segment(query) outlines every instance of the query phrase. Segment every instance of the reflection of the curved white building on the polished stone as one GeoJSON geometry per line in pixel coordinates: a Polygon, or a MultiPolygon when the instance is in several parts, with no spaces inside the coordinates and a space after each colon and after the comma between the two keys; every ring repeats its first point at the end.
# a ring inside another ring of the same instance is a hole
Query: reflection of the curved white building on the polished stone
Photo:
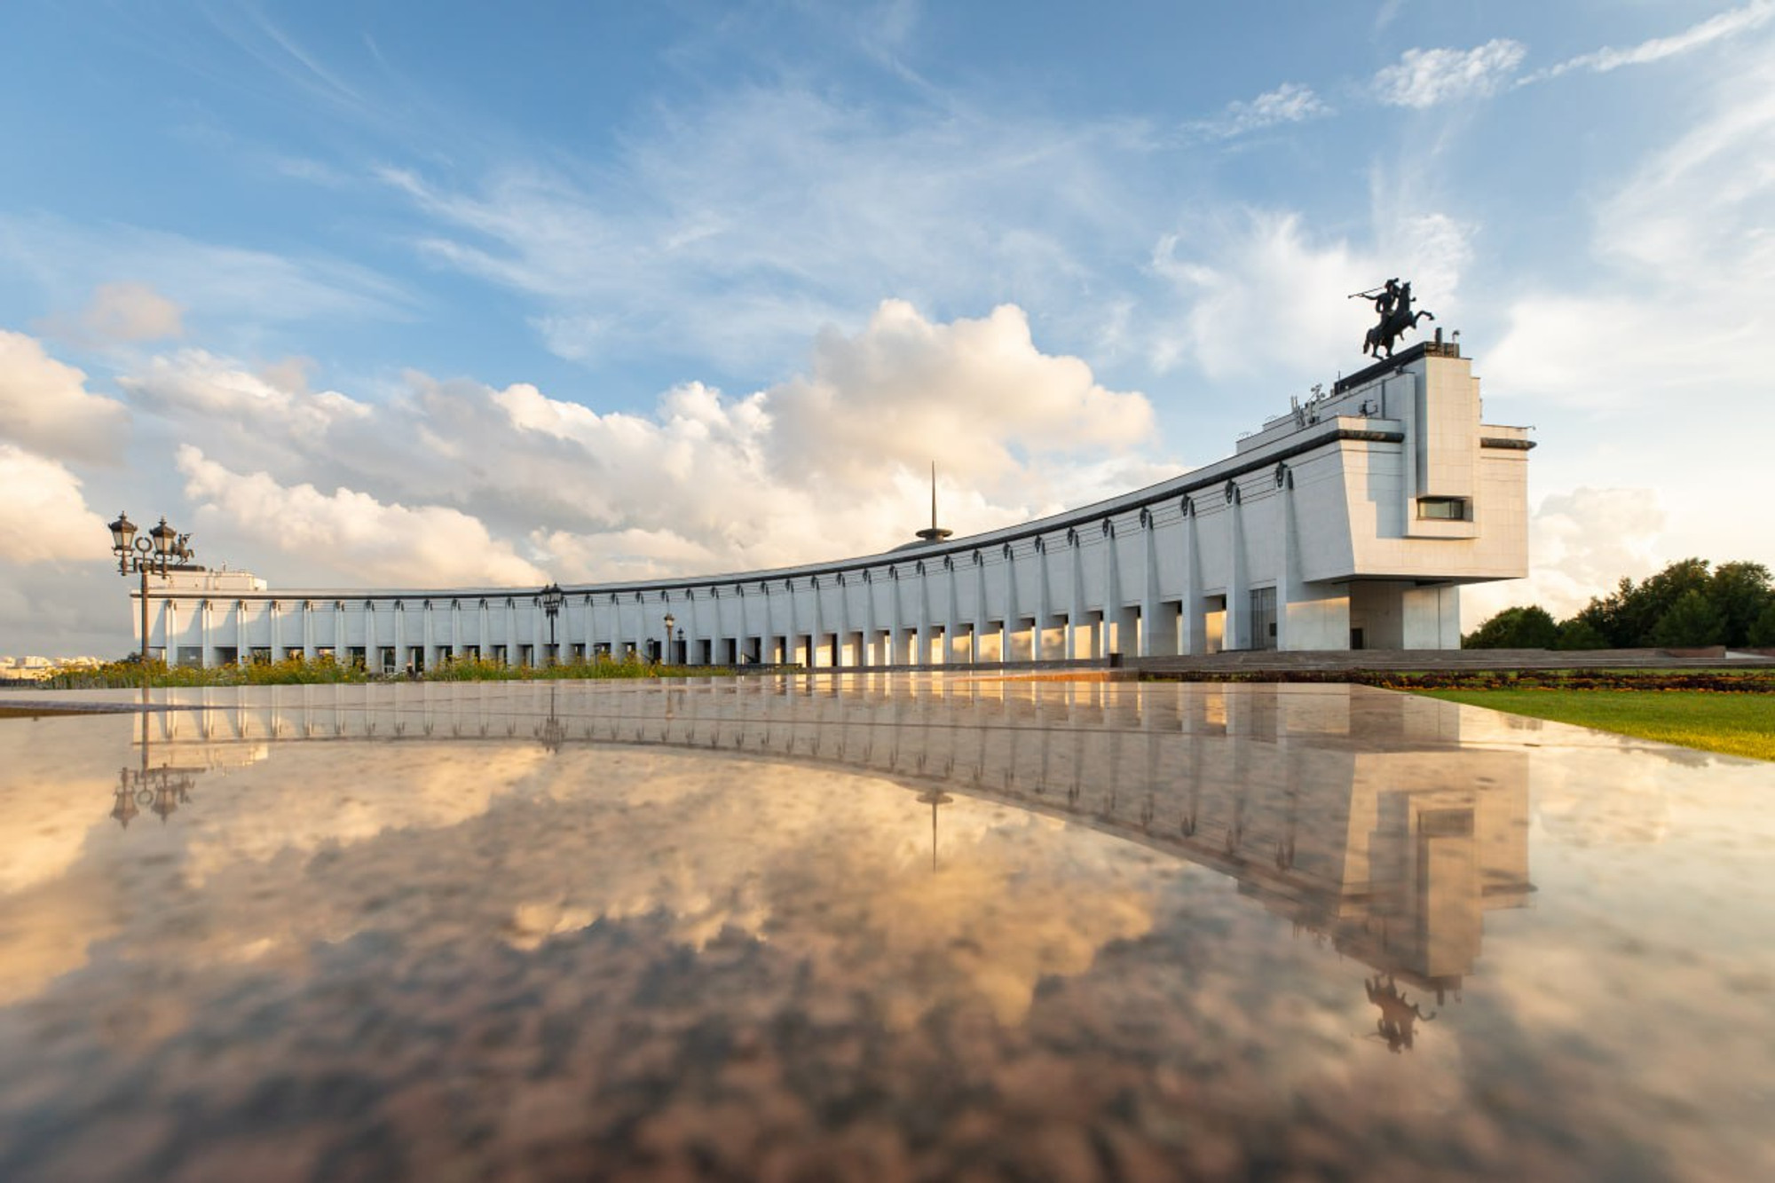
{"type": "Polygon", "coordinates": [[[1521,908],[1534,890],[1528,753],[1461,746],[1447,703],[1367,687],[875,675],[282,691],[227,705],[229,691],[202,691],[197,705],[217,705],[144,716],[144,769],[149,742],[190,753],[195,771],[263,758],[273,742],[499,739],[520,726],[550,751],[724,750],[916,787],[932,810],[934,869],[937,808],[966,792],[1232,877],[1374,970],[1363,988],[1376,1036],[1395,1052],[1459,998],[1484,913],[1521,908]]]}

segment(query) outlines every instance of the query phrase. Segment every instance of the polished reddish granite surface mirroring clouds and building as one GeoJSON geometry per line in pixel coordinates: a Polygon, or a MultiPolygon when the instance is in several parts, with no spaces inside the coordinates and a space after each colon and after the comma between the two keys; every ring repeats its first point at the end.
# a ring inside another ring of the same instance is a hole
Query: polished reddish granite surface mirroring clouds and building
{"type": "Polygon", "coordinates": [[[0,721],[0,1178],[1775,1178],[1775,769],[1345,686],[0,721]]]}

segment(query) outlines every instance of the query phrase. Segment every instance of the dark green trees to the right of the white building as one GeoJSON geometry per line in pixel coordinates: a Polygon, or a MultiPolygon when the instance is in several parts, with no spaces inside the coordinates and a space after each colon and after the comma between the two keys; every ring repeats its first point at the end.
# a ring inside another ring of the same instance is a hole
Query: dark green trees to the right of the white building
{"type": "Polygon", "coordinates": [[[1622,579],[1569,620],[1539,604],[1505,607],[1461,648],[1775,647],[1775,579],[1763,563],[1686,558],[1640,583],[1622,579]]]}

